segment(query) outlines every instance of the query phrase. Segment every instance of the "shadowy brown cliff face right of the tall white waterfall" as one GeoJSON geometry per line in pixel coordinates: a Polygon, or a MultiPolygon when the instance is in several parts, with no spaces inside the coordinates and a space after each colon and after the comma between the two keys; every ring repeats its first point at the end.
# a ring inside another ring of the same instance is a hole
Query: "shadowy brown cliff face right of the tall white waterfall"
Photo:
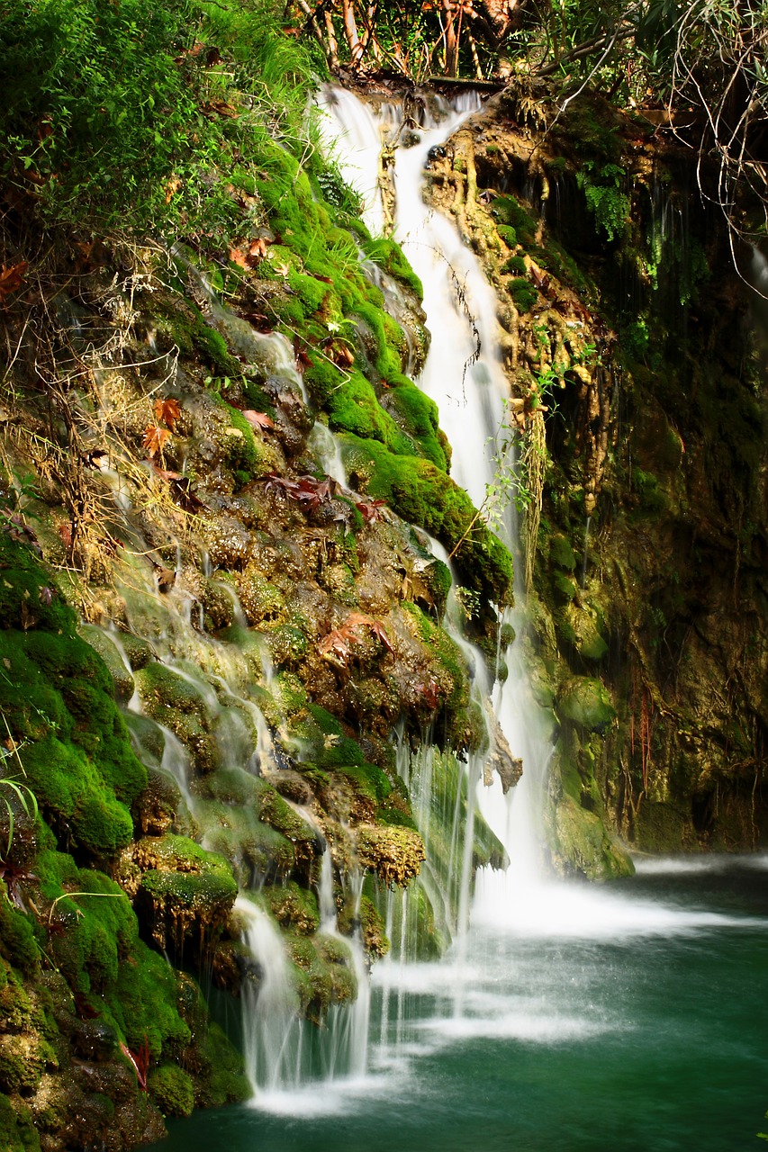
{"type": "Polygon", "coordinates": [[[690,157],[513,84],[430,175],[499,300],[565,872],[610,871],[597,819],[643,851],[767,833],[760,258],[735,268],[690,157]]]}

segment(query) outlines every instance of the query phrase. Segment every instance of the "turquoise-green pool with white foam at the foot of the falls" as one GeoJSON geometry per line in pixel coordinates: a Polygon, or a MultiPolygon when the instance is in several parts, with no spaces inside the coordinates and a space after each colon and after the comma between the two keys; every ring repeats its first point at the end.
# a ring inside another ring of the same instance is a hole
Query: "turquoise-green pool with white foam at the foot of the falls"
{"type": "Polygon", "coordinates": [[[647,869],[542,889],[542,916],[474,926],[461,963],[382,965],[366,1077],[196,1113],[155,1147],[756,1152],[768,861],[647,869]]]}

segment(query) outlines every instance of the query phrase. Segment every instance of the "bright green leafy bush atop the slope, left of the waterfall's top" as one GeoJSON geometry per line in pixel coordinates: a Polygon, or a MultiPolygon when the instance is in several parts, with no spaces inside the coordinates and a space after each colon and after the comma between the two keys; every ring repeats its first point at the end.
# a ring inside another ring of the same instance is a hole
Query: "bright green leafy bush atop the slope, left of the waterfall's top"
{"type": "Polygon", "coordinates": [[[270,134],[313,156],[309,73],[266,0],[9,0],[0,172],[48,225],[224,242],[258,211],[241,156],[270,134]]]}

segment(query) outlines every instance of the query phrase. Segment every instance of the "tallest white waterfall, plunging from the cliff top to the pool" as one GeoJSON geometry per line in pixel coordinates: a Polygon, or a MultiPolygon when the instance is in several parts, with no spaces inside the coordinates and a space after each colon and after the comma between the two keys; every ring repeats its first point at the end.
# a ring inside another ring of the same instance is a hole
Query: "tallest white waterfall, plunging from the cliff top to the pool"
{"type": "MultiPolygon", "coordinates": [[[[442,146],[479,107],[480,100],[472,93],[462,97],[458,107],[437,101],[436,114],[426,114],[416,134],[417,143],[397,149],[394,168],[394,238],[423,285],[427,327],[432,335],[427,363],[416,382],[438,406],[441,427],[453,449],[451,475],[476,507],[483,503],[502,467],[498,445],[509,384],[500,357],[498,302],[472,249],[464,243],[453,221],[424,203],[422,188],[431,150],[442,146]]],[[[351,93],[337,98],[336,90],[333,96],[324,96],[323,108],[333,122],[337,162],[345,179],[368,196],[366,213],[376,218],[378,188],[371,175],[362,176],[361,166],[366,157],[377,157],[382,141],[391,137],[392,112],[387,108],[385,115],[377,118],[351,93]],[[368,135],[363,138],[364,131],[368,135]]],[[[512,551],[519,552],[512,510],[502,532],[512,551]]],[[[441,554],[438,546],[432,544],[432,548],[441,554]]],[[[518,563],[515,568],[519,567],[518,563]]],[[[515,596],[521,602],[524,592],[519,581],[515,596]]],[[[515,611],[514,623],[518,630],[525,624],[520,609],[515,611]]],[[[470,655],[470,661],[484,676],[482,658],[470,655]]],[[[499,894],[499,886],[506,892],[510,884],[522,884],[522,878],[540,873],[540,811],[551,742],[548,743],[547,721],[539,718],[540,710],[530,698],[517,653],[512,655],[504,689],[500,685],[494,689],[487,682],[479,687],[488,700],[495,694],[502,729],[525,764],[522,781],[509,796],[504,796],[499,782],[491,788],[481,786],[479,790],[480,811],[513,861],[506,876],[479,878],[476,903],[482,909],[496,904],[499,895],[506,899],[504,893],[499,894]]],[[[474,801],[474,788],[472,794],[474,801]]]]}

